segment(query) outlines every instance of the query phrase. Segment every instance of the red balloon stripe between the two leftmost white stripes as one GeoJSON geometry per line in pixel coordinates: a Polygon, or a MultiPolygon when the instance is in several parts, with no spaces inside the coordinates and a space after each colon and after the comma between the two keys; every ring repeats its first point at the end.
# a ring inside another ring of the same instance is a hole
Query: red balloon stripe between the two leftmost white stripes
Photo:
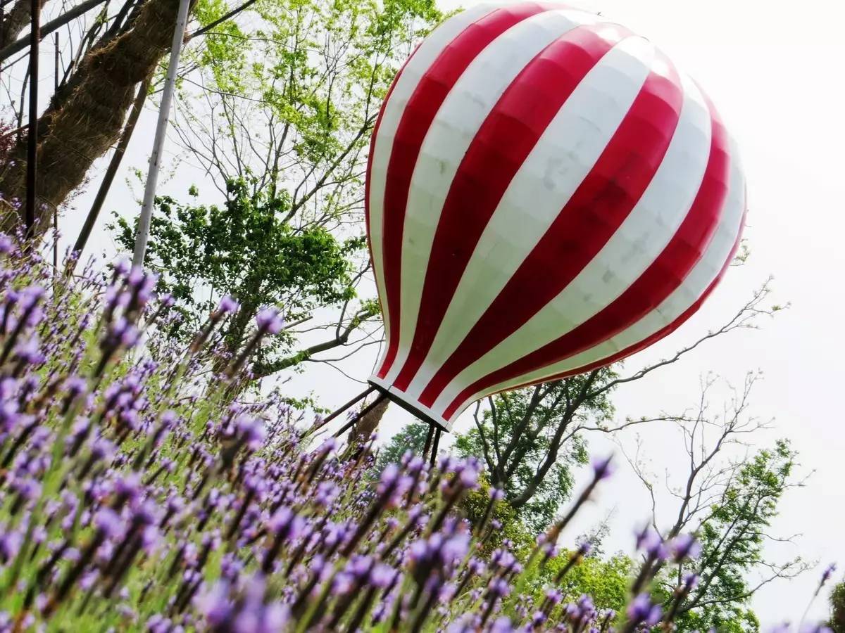
{"type": "Polygon", "coordinates": [[[467,26],[423,74],[402,113],[385,174],[382,266],[392,335],[379,377],[384,378],[387,374],[399,344],[402,232],[411,178],[428,128],[446,95],[472,60],[505,30],[547,8],[535,3],[499,8],[467,26]]]}

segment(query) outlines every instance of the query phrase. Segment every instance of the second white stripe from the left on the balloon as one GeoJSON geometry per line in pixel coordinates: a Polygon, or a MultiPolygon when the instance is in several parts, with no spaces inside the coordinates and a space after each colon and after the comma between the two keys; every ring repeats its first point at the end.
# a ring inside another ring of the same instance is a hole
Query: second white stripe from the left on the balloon
{"type": "Polygon", "coordinates": [[[450,89],[420,148],[411,181],[402,237],[401,330],[388,381],[408,356],[417,326],[434,232],[455,172],[493,106],[522,69],[546,46],[597,16],[559,10],[533,15],[504,31],[466,68],[450,89]]]}

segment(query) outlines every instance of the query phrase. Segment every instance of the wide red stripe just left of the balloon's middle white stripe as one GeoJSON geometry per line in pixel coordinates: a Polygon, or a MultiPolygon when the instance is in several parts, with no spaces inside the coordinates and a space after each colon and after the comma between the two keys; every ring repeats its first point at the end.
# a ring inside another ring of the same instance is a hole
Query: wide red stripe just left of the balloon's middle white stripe
{"type": "Polygon", "coordinates": [[[581,26],[562,35],[521,70],[478,129],[440,213],[417,329],[396,387],[404,391],[423,364],[466,264],[510,181],[581,79],[625,35],[629,34],[607,24],[581,26]]]}

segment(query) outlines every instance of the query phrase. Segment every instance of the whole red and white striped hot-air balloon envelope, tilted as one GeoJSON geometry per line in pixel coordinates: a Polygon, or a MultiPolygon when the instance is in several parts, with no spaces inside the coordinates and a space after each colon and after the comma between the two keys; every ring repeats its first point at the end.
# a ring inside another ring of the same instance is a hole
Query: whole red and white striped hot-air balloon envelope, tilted
{"type": "Polygon", "coordinates": [[[650,42],[526,2],[417,47],[366,204],[387,340],[370,381],[448,430],[679,327],[733,257],[745,192],[716,110],[650,42]]]}

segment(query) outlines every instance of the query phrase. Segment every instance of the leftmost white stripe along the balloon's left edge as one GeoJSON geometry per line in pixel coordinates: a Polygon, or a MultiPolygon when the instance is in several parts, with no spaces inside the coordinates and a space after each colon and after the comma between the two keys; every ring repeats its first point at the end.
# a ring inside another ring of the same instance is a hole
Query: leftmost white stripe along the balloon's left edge
{"type": "MultiPolygon", "coordinates": [[[[414,51],[411,59],[402,69],[395,80],[390,99],[384,104],[384,111],[379,122],[379,133],[373,145],[373,161],[368,175],[369,190],[369,237],[373,249],[373,270],[376,285],[381,298],[382,315],[384,317],[384,337],[390,340],[390,317],[387,306],[387,292],[384,284],[384,185],[387,165],[390,162],[390,152],[393,149],[393,139],[396,128],[399,127],[402,113],[419,84],[420,78],[437,59],[443,49],[461,34],[470,24],[477,22],[484,15],[496,10],[497,7],[489,3],[478,4],[454,17],[447,19],[434,29],[428,37],[414,51]]],[[[387,346],[384,346],[386,354],[387,346]]],[[[381,360],[379,360],[381,365],[381,360]]],[[[379,366],[377,365],[377,366],[379,366]]]]}

